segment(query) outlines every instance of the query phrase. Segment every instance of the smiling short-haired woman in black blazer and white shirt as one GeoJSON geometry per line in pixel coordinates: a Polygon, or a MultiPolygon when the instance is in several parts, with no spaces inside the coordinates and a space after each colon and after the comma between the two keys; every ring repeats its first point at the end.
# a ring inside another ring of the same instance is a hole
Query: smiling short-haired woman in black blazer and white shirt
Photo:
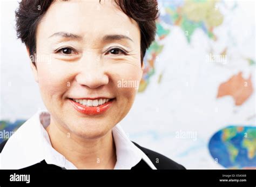
{"type": "Polygon", "coordinates": [[[2,147],[2,169],[185,169],[127,138],[119,122],[136,96],[154,40],[157,2],[22,0],[17,35],[48,111],[2,147]]]}

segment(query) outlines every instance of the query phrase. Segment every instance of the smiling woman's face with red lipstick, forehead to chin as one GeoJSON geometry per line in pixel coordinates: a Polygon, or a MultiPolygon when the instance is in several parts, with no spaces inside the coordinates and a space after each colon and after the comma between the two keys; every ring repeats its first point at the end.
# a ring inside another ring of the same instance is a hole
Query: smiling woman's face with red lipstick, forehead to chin
{"type": "Polygon", "coordinates": [[[36,48],[32,69],[51,123],[97,138],[129,112],[143,73],[140,32],[113,2],[56,1],[37,27],[36,48]]]}

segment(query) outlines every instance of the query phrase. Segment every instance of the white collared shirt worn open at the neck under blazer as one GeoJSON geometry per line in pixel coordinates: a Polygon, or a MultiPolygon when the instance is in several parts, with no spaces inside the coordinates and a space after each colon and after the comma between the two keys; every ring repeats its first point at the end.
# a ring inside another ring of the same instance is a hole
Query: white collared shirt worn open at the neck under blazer
{"type": "MultiPolygon", "coordinates": [[[[49,135],[45,130],[49,122],[41,123],[49,121],[42,117],[49,118],[49,116],[47,111],[38,111],[9,138],[1,153],[0,169],[22,169],[43,160],[65,169],[77,169],[51,146],[49,135]]],[[[112,134],[117,155],[114,169],[131,169],[140,160],[144,160],[152,169],[156,169],[149,157],[129,140],[119,124],[112,128],[112,134]]]]}

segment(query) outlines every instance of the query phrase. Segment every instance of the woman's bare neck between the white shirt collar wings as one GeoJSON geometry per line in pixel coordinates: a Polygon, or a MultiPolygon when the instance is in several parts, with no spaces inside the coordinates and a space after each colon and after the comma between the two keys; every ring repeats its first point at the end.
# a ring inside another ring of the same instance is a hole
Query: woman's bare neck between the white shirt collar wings
{"type": "Polygon", "coordinates": [[[112,130],[103,137],[86,139],[56,126],[46,128],[52,147],[65,156],[78,169],[113,169],[116,164],[116,149],[112,130]]]}

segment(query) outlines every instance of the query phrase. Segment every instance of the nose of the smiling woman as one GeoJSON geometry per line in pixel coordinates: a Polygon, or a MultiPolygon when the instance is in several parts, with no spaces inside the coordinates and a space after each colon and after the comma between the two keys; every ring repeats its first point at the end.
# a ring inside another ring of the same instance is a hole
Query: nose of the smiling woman
{"type": "Polygon", "coordinates": [[[109,76],[106,74],[100,58],[87,54],[79,61],[76,81],[89,88],[98,88],[109,83],[109,76]]]}

